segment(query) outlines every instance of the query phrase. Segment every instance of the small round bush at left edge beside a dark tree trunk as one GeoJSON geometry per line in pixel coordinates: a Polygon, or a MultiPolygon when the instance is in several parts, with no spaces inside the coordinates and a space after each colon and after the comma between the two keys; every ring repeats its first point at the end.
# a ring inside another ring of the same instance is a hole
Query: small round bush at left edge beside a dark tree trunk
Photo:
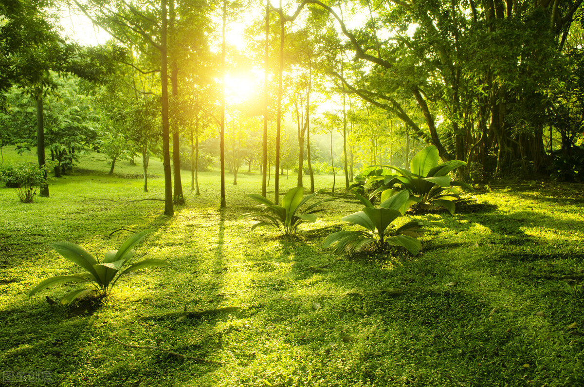
{"type": "Polygon", "coordinates": [[[9,164],[0,168],[0,181],[7,187],[14,188],[16,195],[23,203],[32,203],[41,186],[47,184],[46,175],[50,167],[38,164],[9,164]]]}

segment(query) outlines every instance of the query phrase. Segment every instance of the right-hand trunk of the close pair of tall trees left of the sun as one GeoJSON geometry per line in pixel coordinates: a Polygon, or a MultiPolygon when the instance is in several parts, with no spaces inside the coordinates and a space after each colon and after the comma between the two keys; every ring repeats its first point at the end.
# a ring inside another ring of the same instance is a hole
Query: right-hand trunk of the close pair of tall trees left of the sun
{"type": "MultiPolygon", "coordinates": [[[[169,2],[169,12],[170,12],[170,30],[171,30],[171,46],[170,46],[170,58],[171,58],[171,87],[172,87],[172,101],[176,104],[179,95],[179,68],[176,63],[176,29],[175,29],[175,2],[170,0],[169,2]]],[[[180,136],[179,136],[179,125],[177,120],[172,123],[172,168],[175,177],[175,198],[177,203],[185,202],[185,195],[182,190],[182,180],[180,179],[180,136]]]]}

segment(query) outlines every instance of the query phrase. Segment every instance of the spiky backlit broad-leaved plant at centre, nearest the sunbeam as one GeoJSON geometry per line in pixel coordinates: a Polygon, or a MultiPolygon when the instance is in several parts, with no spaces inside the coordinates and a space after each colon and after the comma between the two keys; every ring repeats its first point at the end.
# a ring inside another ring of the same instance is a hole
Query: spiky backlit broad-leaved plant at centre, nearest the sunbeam
{"type": "Polygon", "coordinates": [[[262,195],[252,193],[247,196],[260,203],[260,205],[256,207],[267,211],[244,213],[239,216],[239,219],[250,217],[253,220],[257,220],[258,223],[252,226],[252,230],[257,227],[269,226],[274,227],[274,229],[280,231],[283,235],[294,234],[300,224],[304,222],[316,222],[318,217],[316,214],[324,210],[322,208],[318,209],[318,205],[334,200],[333,198],[324,199],[300,210],[300,208],[317,193],[318,191],[304,196],[304,188],[292,188],[282,199],[281,206],[276,205],[262,195]]]}

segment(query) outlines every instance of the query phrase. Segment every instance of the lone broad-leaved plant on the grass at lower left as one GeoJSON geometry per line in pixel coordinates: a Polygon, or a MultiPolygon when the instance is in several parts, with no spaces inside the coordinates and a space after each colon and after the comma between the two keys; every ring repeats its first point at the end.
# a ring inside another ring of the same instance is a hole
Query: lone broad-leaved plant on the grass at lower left
{"type": "Polygon", "coordinates": [[[146,259],[131,264],[123,271],[121,270],[126,262],[134,256],[136,251],[133,247],[151,232],[151,230],[144,230],[134,234],[129,237],[118,250],[107,251],[101,262],[93,257],[93,255],[91,255],[91,253],[89,253],[84,247],[81,247],[78,244],[70,242],[51,243],[51,247],[57,250],[59,254],[85,269],[85,272],[74,275],[59,275],[45,279],[29,292],[29,297],[48,288],[48,286],[64,284],[67,282],[83,282],[92,287],[77,289],[68,293],[61,299],[61,303],[63,304],[68,304],[77,298],[87,296],[91,293],[96,293],[99,297],[106,297],[112,291],[114,285],[116,285],[117,280],[123,275],[147,267],[172,266],[163,260],[146,259]]]}

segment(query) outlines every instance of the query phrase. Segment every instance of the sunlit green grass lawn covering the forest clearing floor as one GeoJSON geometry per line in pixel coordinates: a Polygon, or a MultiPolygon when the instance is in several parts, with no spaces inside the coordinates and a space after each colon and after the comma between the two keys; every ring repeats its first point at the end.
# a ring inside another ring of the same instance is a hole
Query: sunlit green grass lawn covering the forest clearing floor
{"type": "MultiPolygon", "coordinates": [[[[5,154],[5,157],[9,155],[5,154]]],[[[337,193],[317,223],[293,237],[250,232],[256,174],[227,185],[200,174],[176,216],[162,216],[161,166],[150,192],[141,167],[82,158],[50,198],[18,202],[0,189],[0,372],[4,382],[59,386],[574,386],[584,384],[582,185],[492,185],[440,222],[416,257],[395,250],[333,257],[325,237],[360,209],[337,193]],[[158,175],[158,176],[157,176],[158,175]],[[48,246],[81,244],[95,255],[133,230],[154,229],[137,257],[156,268],[121,279],[101,304],[50,305],[67,286],[27,298],[51,275],[77,272],[48,246]],[[162,317],[164,313],[230,313],[162,317]],[[110,340],[151,345],[128,348],[110,340]],[[44,374],[43,374],[44,372],[44,374]],[[18,379],[20,378],[20,379],[18,379]],[[27,382],[23,382],[27,380],[27,382]]],[[[317,177],[330,190],[332,177],[317,177]]],[[[283,189],[296,178],[283,179],[283,189]]],[[[328,193],[330,194],[330,193],[328,193]]],[[[405,221],[406,219],[404,219],[405,221]]]]}

